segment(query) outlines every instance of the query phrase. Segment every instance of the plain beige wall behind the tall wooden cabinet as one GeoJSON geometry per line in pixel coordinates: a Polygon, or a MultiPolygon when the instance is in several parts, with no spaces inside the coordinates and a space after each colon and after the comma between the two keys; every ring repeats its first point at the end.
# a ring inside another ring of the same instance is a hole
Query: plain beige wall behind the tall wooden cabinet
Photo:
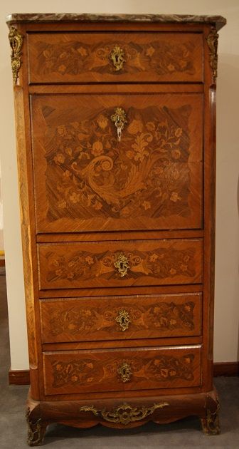
{"type": "Polygon", "coordinates": [[[9,301],[11,368],[28,368],[23,269],[19,225],[14,110],[6,14],[14,12],[91,12],[152,14],[221,14],[228,25],[220,31],[218,63],[217,130],[217,227],[215,361],[236,361],[239,315],[239,226],[238,226],[238,90],[239,90],[239,1],[238,0],[147,0],[2,1],[0,6],[1,78],[1,172],[4,200],[4,240],[9,301]],[[37,5],[37,6],[36,6],[37,5]],[[41,9],[39,11],[39,9],[41,9]]]}

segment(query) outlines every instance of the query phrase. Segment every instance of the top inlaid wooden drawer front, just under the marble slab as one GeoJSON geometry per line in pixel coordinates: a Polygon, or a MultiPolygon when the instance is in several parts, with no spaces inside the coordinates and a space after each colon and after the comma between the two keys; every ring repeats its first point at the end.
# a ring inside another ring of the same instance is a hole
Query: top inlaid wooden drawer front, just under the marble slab
{"type": "Polygon", "coordinates": [[[203,81],[201,33],[28,34],[30,83],[203,81]]]}

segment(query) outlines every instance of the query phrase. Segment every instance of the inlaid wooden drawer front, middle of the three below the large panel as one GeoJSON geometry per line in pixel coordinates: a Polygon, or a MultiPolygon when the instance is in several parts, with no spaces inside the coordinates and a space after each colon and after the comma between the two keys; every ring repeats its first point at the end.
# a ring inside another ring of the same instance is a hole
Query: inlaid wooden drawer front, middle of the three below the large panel
{"type": "Polygon", "coordinates": [[[41,300],[43,343],[199,336],[201,296],[41,300]]]}

